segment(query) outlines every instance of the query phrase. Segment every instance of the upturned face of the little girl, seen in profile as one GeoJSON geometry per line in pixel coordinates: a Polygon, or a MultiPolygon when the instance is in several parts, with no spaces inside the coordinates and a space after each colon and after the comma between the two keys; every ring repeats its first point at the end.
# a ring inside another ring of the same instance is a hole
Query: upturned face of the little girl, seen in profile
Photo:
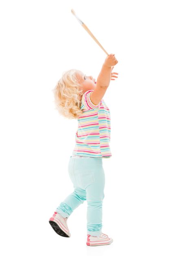
{"type": "Polygon", "coordinates": [[[85,76],[85,74],[79,70],[76,76],[78,78],[79,84],[83,89],[83,93],[85,93],[85,91],[88,91],[88,90],[94,90],[96,85],[95,85],[95,79],[92,78],[92,76],[85,76]]]}

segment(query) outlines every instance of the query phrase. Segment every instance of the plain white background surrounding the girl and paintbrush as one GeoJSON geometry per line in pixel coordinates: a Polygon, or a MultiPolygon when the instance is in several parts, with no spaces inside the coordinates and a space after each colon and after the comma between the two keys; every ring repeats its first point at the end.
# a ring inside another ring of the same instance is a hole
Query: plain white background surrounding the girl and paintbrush
{"type": "Polygon", "coordinates": [[[183,255],[181,2],[0,2],[2,255],[183,255]],[[72,68],[97,79],[107,57],[72,8],[118,60],[104,96],[107,246],[86,245],[87,202],[68,219],[70,238],[48,223],[73,191],[67,168],[77,129],[54,109],[52,89],[72,68]]]}

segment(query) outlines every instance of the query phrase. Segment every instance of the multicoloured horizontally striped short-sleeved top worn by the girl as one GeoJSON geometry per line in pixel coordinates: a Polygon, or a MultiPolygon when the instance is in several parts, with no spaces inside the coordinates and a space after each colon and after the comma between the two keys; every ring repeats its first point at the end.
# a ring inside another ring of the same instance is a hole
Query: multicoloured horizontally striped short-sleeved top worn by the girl
{"type": "Polygon", "coordinates": [[[83,93],[80,109],[83,114],[78,118],[76,144],[72,155],[87,157],[111,157],[109,142],[111,139],[111,116],[105,101],[102,99],[94,105],[88,90],[83,93]]]}

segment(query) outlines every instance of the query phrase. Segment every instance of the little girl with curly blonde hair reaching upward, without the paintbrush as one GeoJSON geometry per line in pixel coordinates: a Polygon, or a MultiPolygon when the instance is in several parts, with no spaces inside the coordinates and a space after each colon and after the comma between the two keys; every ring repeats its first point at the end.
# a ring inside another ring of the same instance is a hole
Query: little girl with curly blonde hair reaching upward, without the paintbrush
{"type": "Polygon", "coordinates": [[[63,73],[54,88],[55,104],[59,113],[78,120],[76,144],[70,156],[68,173],[74,191],[55,209],[49,223],[60,236],[70,237],[67,220],[79,205],[87,200],[87,242],[89,246],[109,245],[113,239],[102,233],[102,201],[105,173],[102,158],[111,157],[110,111],[103,96],[115,76],[111,73],[118,63],[114,54],[105,59],[95,81],[79,70],[63,73]]]}

